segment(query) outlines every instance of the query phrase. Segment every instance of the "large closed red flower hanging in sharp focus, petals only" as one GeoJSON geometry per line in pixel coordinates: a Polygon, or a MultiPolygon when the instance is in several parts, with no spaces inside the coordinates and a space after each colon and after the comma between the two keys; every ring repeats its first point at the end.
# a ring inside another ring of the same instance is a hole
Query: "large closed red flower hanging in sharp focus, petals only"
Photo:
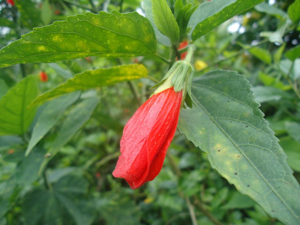
{"type": "Polygon", "coordinates": [[[181,100],[182,91],[171,87],[137,109],[125,125],[114,177],[136,189],[158,175],[176,131],[181,100]]]}

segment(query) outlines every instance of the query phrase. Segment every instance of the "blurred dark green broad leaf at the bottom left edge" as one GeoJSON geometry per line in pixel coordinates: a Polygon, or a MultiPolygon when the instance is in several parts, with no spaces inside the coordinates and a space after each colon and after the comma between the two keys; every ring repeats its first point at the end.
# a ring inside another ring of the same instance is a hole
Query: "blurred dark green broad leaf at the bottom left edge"
{"type": "Polygon", "coordinates": [[[88,187],[83,177],[67,175],[55,183],[53,190],[27,193],[23,205],[25,224],[74,224],[73,221],[77,225],[91,224],[95,218],[95,203],[82,194],[86,190],[82,184],[88,187]],[[78,194],[69,191],[70,188],[82,190],[78,194]]]}

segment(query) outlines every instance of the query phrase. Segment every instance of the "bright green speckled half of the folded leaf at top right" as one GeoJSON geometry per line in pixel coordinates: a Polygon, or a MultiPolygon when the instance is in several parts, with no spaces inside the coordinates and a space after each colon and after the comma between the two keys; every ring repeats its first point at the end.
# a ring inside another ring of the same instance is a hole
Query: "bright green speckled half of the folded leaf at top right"
{"type": "MultiPolygon", "coordinates": [[[[199,22],[193,30],[192,40],[195,41],[216,26],[225,22],[227,19],[252,8],[263,1],[264,0],[237,0],[233,2],[232,4],[224,7],[222,10],[216,12],[214,15],[204,19],[202,22],[199,22]]],[[[201,10],[201,5],[194,12],[195,16],[197,15],[196,13],[198,10],[201,10]]]]}

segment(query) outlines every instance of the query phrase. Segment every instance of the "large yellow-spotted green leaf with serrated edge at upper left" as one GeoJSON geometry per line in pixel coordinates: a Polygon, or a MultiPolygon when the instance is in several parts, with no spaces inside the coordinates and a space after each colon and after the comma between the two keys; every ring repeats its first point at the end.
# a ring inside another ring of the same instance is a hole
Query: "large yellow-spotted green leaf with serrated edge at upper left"
{"type": "Polygon", "coordinates": [[[128,57],[155,52],[155,34],[148,19],[137,12],[101,11],[69,16],[67,20],[34,28],[1,49],[0,67],[93,55],[128,57]]]}

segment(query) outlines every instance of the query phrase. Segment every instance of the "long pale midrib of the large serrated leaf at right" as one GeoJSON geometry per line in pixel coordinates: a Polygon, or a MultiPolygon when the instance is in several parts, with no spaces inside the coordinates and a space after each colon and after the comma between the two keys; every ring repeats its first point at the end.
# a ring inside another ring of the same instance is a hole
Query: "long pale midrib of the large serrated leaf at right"
{"type": "Polygon", "coordinates": [[[214,118],[208,113],[208,111],[205,109],[205,107],[203,107],[203,105],[198,101],[198,99],[195,97],[195,95],[193,95],[193,99],[195,99],[195,101],[199,104],[199,106],[204,110],[204,112],[209,116],[209,118],[211,119],[211,121],[220,129],[220,131],[223,132],[223,134],[225,134],[225,136],[232,142],[232,144],[241,152],[241,154],[245,157],[245,159],[247,159],[247,161],[250,163],[250,165],[256,170],[256,172],[259,174],[259,176],[263,179],[263,181],[268,184],[268,186],[270,187],[270,189],[276,194],[276,196],[280,199],[280,201],[286,206],[286,208],[292,213],[292,215],[296,218],[296,220],[300,221],[297,217],[297,215],[294,213],[294,211],[292,211],[292,209],[286,204],[286,202],[280,197],[280,195],[273,189],[273,187],[271,186],[271,184],[268,183],[268,181],[264,178],[264,176],[259,172],[259,170],[252,164],[252,162],[250,161],[250,159],[244,155],[244,152],[238,147],[238,145],[231,139],[231,137],[226,133],[226,131],[223,130],[223,128],[214,120],[214,118]]]}

